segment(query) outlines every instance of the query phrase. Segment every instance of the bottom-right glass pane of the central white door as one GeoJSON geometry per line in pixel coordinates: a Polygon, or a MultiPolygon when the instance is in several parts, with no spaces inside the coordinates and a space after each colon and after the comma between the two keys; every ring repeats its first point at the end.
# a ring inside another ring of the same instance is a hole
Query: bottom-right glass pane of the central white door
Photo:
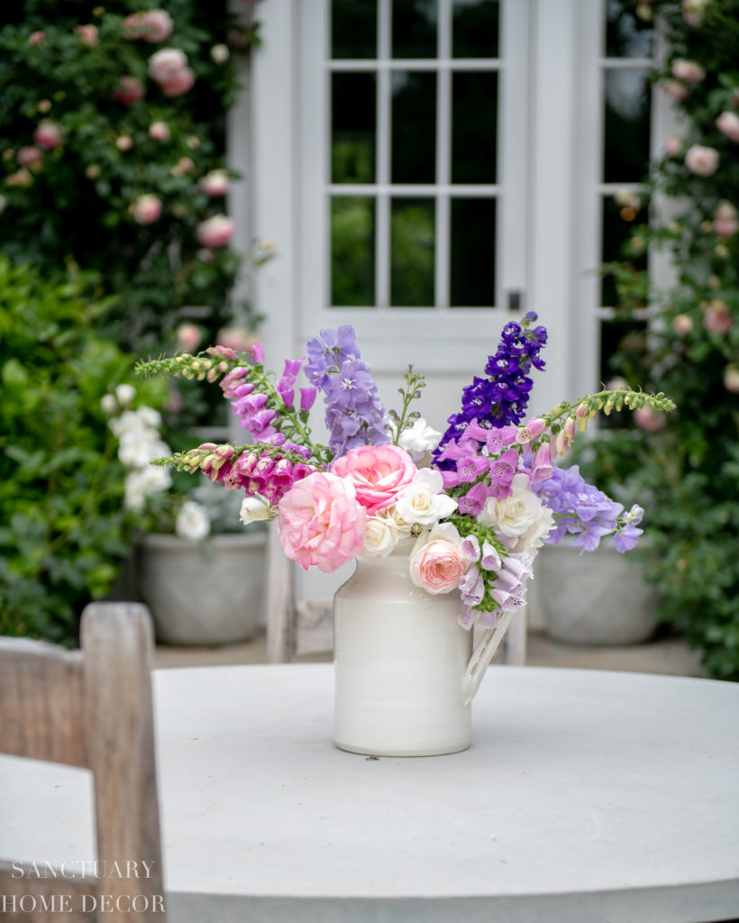
{"type": "Polygon", "coordinates": [[[451,200],[452,307],[495,305],[495,198],[451,200]]]}

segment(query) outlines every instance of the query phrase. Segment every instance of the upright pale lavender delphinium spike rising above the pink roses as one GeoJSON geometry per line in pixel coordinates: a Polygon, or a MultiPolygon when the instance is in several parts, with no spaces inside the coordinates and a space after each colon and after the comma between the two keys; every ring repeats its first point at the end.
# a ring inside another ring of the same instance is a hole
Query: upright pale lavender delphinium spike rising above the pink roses
{"type": "Polygon", "coordinates": [[[306,346],[305,374],[326,395],[328,449],[338,458],[358,446],[389,442],[385,408],[370,366],[360,357],[354,330],[321,330],[306,346]]]}

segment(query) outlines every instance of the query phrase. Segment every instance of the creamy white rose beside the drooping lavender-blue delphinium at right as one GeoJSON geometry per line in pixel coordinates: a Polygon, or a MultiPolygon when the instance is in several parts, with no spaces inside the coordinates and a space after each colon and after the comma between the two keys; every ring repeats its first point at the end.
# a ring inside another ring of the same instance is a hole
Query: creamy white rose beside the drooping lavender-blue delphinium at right
{"type": "Polygon", "coordinates": [[[528,474],[516,474],[511,487],[509,497],[488,497],[478,521],[495,529],[511,552],[529,554],[542,545],[541,539],[554,526],[554,517],[531,491],[528,474]]]}

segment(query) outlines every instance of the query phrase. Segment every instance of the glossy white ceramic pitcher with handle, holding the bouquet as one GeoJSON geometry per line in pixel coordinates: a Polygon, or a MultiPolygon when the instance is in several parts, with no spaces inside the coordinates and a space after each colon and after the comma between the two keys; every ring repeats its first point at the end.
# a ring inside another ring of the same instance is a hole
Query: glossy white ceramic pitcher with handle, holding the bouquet
{"type": "Polygon", "coordinates": [[[413,540],[388,557],[360,557],[334,597],[334,742],[372,756],[435,756],[471,743],[471,699],[510,613],[484,632],[457,620],[459,591],[411,582],[413,540]]]}

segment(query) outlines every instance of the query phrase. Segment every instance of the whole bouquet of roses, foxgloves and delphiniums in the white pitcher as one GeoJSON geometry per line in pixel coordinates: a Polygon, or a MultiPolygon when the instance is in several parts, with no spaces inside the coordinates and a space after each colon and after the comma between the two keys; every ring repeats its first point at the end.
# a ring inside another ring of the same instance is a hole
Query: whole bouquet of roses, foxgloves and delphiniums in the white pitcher
{"type": "Polygon", "coordinates": [[[569,532],[582,551],[608,534],[619,551],[636,545],[642,509],[625,512],[577,469],[554,467],[576,431],[599,410],[673,408],[663,394],[604,390],[522,423],[530,369],[544,365],[546,330],[531,328],[535,320],[530,313],[506,325],[486,377],[464,390],[462,409],[443,435],[411,411],[423,389],[412,366],[399,412],[386,413],[349,326],[321,330],[274,383],[260,345],[251,361],[215,346],[141,364],[142,374],[219,381],[254,439],[244,446],[205,443],[155,463],[244,491],[242,521],[277,518],[283,551],[304,569],[332,572],[362,555],[387,556],[412,538],[411,581],[427,593],[458,591],[465,628],[476,621],[493,627],[501,610],[523,605],[543,543],[569,532]],[[296,389],[301,370],[308,384],[296,389]],[[308,426],[318,391],[328,446],[316,443],[308,426]]]}

